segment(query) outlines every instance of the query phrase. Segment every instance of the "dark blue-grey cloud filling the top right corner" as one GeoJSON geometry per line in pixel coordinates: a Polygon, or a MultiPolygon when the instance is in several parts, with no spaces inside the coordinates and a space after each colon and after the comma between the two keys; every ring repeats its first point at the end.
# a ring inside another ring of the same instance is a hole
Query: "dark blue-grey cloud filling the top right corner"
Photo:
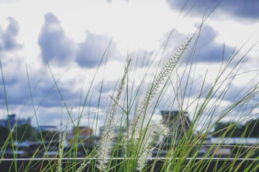
{"type": "Polygon", "coordinates": [[[170,0],[170,7],[176,10],[183,10],[184,13],[190,12],[195,15],[203,15],[204,10],[211,11],[217,6],[215,13],[222,14],[222,12],[232,15],[233,17],[258,19],[259,17],[259,1],[257,0],[170,0]],[[219,6],[217,6],[219,4],[219,6]]]}

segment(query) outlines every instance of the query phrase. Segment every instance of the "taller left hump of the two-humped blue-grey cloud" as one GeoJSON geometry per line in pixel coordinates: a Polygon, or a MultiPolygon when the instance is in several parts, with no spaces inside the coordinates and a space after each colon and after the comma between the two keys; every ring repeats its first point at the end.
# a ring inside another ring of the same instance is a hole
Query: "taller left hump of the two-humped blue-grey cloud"
{"type": "Polygon", "coordinates": [[[52,13],[45,15],[45,23],[39,35],[39,44],[42,48],[42,56],[45,55],[47,60],[54,61],[60,66],[71,61],[75,53],[73,41],[66,37],[60,21],[52,13]]]}

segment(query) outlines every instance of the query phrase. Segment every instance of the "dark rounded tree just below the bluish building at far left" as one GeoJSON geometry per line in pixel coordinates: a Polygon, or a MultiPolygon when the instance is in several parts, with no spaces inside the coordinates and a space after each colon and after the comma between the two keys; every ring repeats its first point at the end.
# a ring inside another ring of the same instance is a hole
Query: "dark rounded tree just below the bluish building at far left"
{"type": "Polygon", "coordinates": [[[13,133],[13,138],[15,140],[21,141],[37,141],[37,135],[34,131],[33,126],[30,124],[22,124],[15,128],[15,132],[13,133]]]}

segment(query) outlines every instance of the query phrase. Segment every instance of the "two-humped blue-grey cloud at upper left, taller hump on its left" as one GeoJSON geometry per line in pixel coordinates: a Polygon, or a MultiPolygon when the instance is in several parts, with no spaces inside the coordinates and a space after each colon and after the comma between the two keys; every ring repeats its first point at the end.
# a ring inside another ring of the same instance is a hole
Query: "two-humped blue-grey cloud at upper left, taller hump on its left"
{"type": "Polygon", "coordinates": [[[122,56],[114,41],[111,41],[111,38],[106,35],[87,32],[86,39],[76,44],[72,39],[66,37],[60,21],[52,13],[45,15],[45,23],[39,35],[39,44],[42,48],[42,57],[45,55],[48,61],[57,66],[64,66],[76,61],[81,67],[93,68],[98,66],[104,55],[105,57],[109,55],[112,59],[121,59],[122,56]]]}

